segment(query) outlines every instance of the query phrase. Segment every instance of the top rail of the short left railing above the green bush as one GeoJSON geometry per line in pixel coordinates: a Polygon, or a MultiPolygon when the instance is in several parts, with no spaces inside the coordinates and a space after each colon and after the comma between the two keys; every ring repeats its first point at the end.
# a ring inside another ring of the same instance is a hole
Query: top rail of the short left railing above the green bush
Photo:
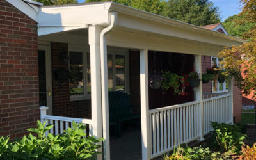
{"type": "Polygon", "coordinates": [[[43,119],[47,120],[60,120],[65,122],[77,122],[77,123],[83,123],[83,124],[92,124],[92,120],[90,119],[83,119],[83,118],[70,118],[65,116],[49,116],[49,115],[43,115],[43,119]]]}

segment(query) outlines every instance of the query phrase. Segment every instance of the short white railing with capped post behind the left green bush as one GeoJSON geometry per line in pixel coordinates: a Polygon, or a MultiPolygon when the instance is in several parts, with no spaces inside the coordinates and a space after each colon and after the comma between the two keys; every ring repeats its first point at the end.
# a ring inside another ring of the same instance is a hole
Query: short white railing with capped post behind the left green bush
{"type": "Polygon", "coordinates": [[[77,124],[83,124],[86,125],[86,132],[89,135],[92,135],[92,120],[90,119],[84,119],[84,118],[70,118],[70,117],[65,117],[65,116],[51,116],[47,115],[47,107],[40,107],[41,111],[41,122],[47,121],[47,124],[52,124],[54,127],[50,129],[48,132],[45,132],[47,135],[49,132],[51,134],[62,134],[65,129],[68,127],[72,127],[72,122],[76,122],[77,124]]]}

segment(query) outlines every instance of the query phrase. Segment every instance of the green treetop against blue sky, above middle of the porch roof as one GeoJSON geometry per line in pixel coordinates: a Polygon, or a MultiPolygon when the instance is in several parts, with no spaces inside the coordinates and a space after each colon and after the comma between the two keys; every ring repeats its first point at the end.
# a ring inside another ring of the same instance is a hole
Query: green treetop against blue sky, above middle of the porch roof
{"type": "Polygon", "coordinates": [[[196,26],[220,22],[219,8],[209,0],[168,0],[163,15],[196,26]]]}

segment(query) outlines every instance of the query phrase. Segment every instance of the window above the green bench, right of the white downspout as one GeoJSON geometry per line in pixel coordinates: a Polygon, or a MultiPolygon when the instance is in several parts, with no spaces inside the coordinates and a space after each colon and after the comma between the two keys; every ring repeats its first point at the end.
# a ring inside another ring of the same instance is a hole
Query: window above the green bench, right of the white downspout
{"type": "Polygon", "coordinates": [[[108,91],[129,93],[127,54],[108,54],[108,91]]]}

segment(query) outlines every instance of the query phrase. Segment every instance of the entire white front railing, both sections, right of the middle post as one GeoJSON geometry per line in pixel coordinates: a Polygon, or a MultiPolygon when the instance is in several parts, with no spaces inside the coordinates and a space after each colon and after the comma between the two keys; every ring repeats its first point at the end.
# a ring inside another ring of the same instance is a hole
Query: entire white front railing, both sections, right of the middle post
{"type": "Polygon", "coordinates": [[[211,121],[232,122],[231,95],[203,100],[204,126],[200,124],[200,101],[149,110],[150,158],[160,156],[173,147],[199,139],[212,130],[211,121]]]}

